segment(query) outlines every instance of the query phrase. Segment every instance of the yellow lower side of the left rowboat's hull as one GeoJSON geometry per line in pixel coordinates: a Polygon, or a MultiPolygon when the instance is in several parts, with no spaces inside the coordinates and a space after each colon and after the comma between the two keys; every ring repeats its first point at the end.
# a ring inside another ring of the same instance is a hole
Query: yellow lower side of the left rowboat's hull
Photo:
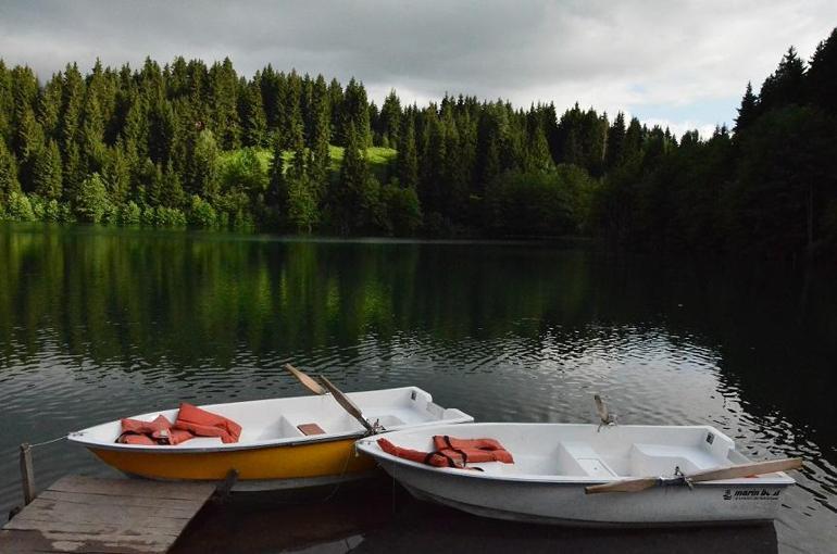
{"type": "Polygon", "coordinates": [[[90,449],[122,471],[157,479],[221,480],[230,469],[238,478],[299,479],[367,471],[375,462],[355,454],[355,439],[235,450],[175,454],[90,449]]]}

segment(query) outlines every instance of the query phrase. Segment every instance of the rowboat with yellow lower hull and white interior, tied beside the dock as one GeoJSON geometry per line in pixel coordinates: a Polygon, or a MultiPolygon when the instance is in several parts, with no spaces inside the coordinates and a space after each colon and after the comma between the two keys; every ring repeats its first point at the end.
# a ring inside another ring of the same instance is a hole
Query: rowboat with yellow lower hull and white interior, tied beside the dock
{"type": "MultiPolygon", "coordinates": [[[[416,387],[347,393],[375,430],[473,421],[444,408],[416,387]]],[[[288,489],[327,484],[366,476],[375,462],[354,451],[366,428],[332,394],[267,399],[200,406],[241,426],[238,442],[196,437],[176,445],[122,444],[120,420],[70,433],[107,464],[130,476],[184,481],[221,481],[237,471],[236,490],[288,489]],[[313,425],[312,425],[313,424],[313,425]],[[307,435],[309,433],[309,435],[307,435]]],[[[170,421],[177,410],[150,412],[133,419],[170,421]]]]}

